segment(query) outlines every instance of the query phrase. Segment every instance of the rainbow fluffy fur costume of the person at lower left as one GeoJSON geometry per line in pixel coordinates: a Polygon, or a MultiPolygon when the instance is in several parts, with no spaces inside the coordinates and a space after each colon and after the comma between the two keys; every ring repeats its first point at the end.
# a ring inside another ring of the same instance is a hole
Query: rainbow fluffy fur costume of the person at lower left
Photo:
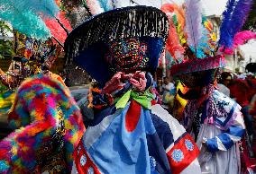
{"type": "Polygon", "coordinates": [[[0,173],[41,173],[50,165],[71,170],[85,127],[67,87],[47,76],[27,79],[8,119],[16,130],[0,142],[0,173]]]}

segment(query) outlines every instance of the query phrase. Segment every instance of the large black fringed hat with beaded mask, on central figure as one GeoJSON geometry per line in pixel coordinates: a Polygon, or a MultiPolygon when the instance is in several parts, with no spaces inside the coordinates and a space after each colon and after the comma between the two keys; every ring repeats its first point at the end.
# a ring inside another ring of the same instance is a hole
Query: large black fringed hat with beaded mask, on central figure
{"type": "Polygon", "coordinates": [[[155,71],[168,25],[165,13],[149,6],[100,13],[69,34],[66,57],[102,85],[117,72],[155,71]]]}

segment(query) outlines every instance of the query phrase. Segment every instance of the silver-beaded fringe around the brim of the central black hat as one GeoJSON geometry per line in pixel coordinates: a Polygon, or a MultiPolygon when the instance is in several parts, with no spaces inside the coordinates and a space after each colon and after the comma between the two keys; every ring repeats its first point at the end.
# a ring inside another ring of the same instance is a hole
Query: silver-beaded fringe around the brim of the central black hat
{"type": "Polygon", "coordinates": [[[101,13],[73,30],[65,41],[67,63],[99,41],[120,38],[153,37],[166,40],[169,19],[160,9],[151,6],[129,6],[101,13]],[[83,41],[81,41],[83,40],[83,41]]]}

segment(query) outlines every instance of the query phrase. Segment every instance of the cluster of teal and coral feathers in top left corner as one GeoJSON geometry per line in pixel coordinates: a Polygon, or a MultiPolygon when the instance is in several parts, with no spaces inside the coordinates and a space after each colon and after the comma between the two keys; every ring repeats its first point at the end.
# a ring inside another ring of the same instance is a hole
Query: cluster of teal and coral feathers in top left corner
{"type": "Polygon", "coordinates": [[[59,5],[59,0],[1,0],[0,18],[30,38],[63,42],[71,27],[59,5]]]}

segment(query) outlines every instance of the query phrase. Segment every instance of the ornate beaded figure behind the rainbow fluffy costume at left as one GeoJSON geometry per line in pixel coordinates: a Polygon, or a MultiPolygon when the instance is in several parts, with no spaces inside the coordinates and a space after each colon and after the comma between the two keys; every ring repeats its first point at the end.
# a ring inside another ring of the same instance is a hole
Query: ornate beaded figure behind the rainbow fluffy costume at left
{"type": "Polygon", "coordinates": [[[41,42],[16,32],[15,40],[17,56],[13,57],[6,73],[0,68],[0,117],[4,121],[14,102],[15,91],[25,78],[44,74],[65,85],[58,74],[49,71],[61,51],[52,39],[41,42]]]}

